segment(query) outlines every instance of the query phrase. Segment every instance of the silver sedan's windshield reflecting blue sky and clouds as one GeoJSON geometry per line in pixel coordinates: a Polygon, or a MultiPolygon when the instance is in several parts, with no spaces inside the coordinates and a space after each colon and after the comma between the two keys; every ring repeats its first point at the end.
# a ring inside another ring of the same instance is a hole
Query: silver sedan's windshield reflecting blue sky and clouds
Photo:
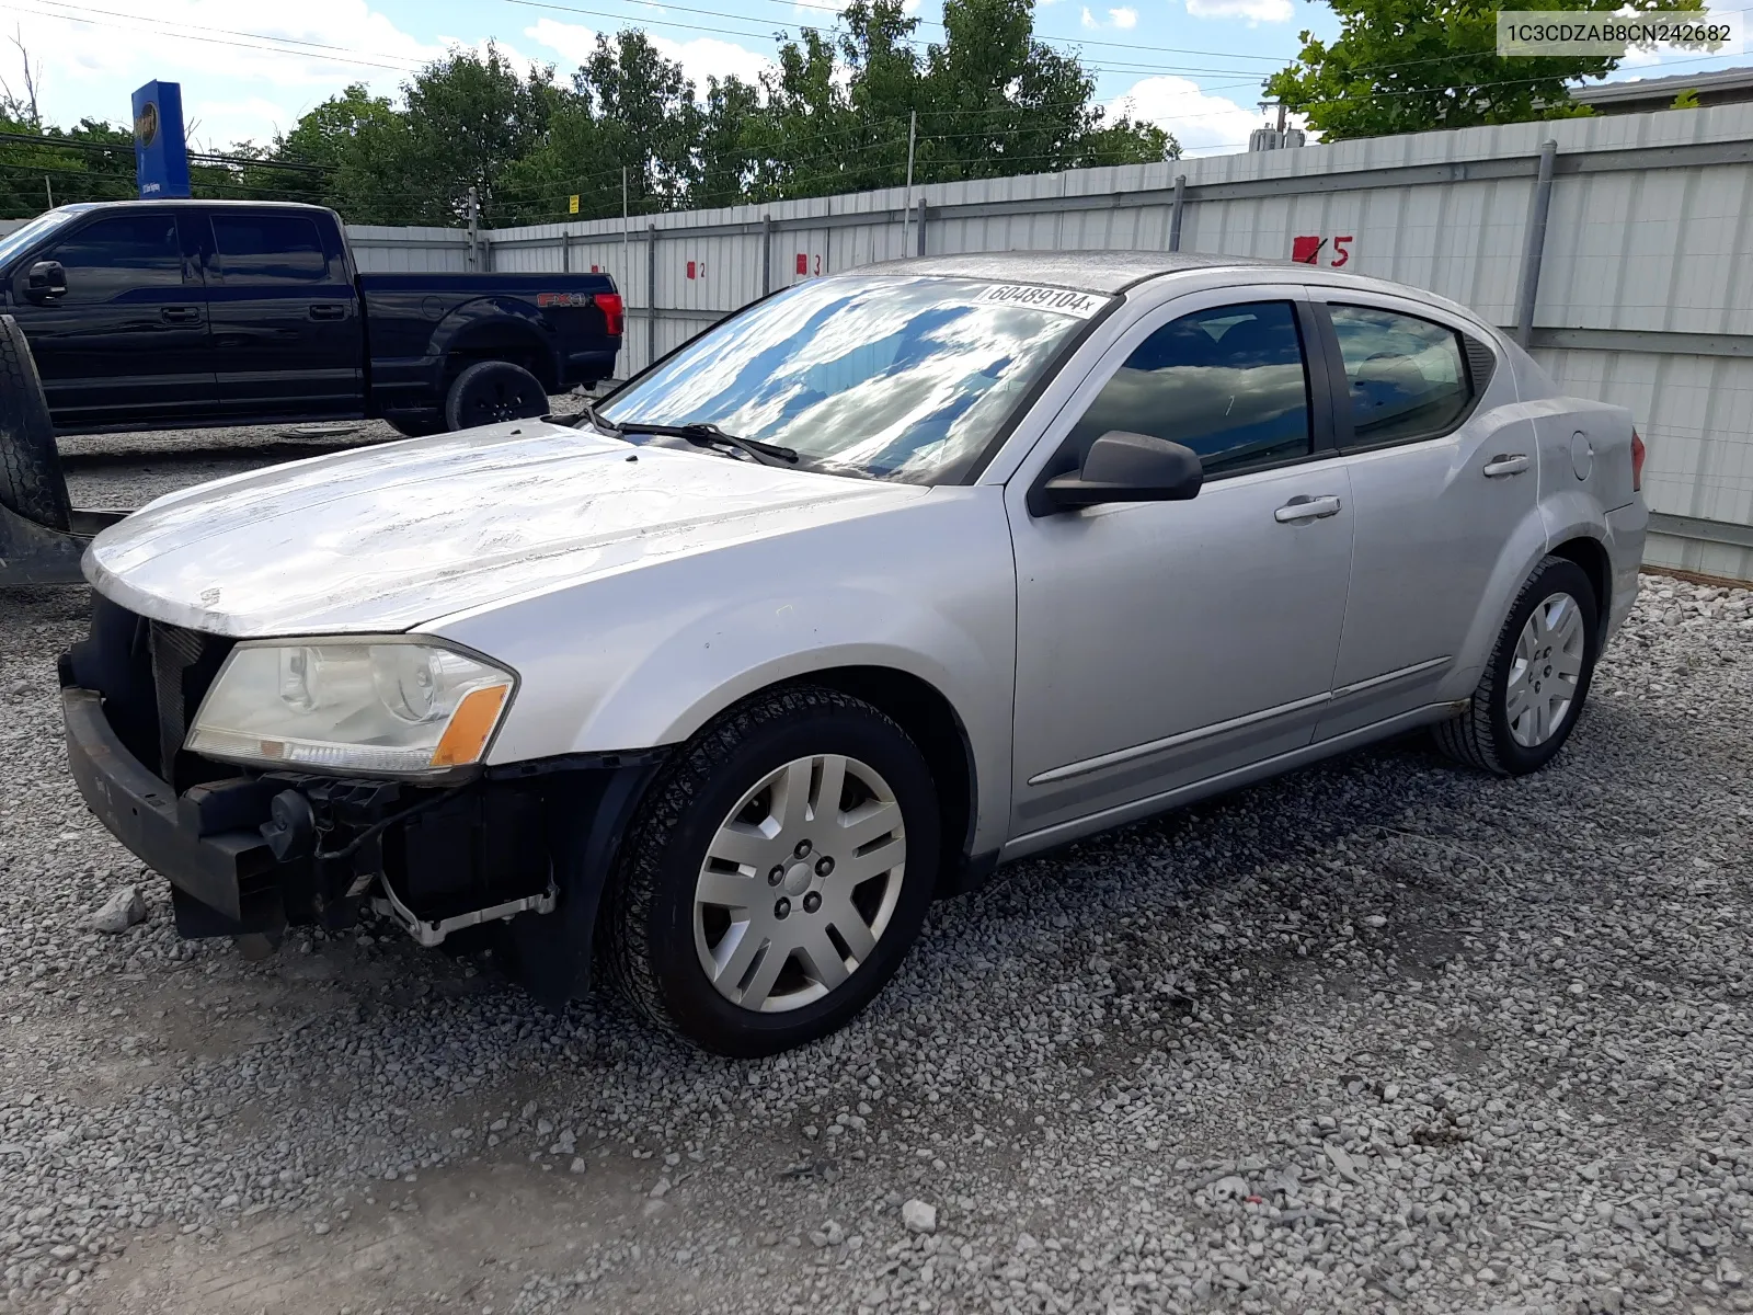
{"type": "Polygon", "coordinates": [[[717,424],[791,447],[808,470],[948,484],[1104,302],[975,279],[806,282],[708,330],[603,417],[717,424]]]}

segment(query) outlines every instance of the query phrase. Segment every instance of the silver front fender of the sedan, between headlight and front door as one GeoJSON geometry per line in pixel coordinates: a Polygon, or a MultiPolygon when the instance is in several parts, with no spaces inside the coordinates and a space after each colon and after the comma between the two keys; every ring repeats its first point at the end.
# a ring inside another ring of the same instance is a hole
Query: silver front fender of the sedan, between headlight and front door
{"type": "Polygon", "coordinates": [[[1001,498],[934,489],[435,629],[519,672],[491,764],[680,743],[738,700],[812,672],[912,675],[950,703],[973,749],[978,852],[1010,810],[1017,587],[1001,498]]]}

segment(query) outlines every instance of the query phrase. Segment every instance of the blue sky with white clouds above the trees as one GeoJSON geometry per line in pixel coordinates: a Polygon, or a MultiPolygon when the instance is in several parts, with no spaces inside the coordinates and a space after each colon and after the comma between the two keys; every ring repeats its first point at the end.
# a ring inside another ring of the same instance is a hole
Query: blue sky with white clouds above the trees
{"type": "MultiPolygon", "coordinates": [[[[941,37],[941,0],[912,0],[924,40],[941,37]]],[[[1078,49],[1104,103],[1153,119],[1190,154],[1245,149],[1262,123],[1260,79],[1288,63],[1304,28],[1329,37],[1313,0],[1038,0],[1036,32],[1078,49]]],[[[449,46],[489,39],[519,61],[578,65],[598,32],[642,26],[705,89],[712,74],[754,77],[773,33],[831,26],[833,0],[0,0],[0,32],[40,61],[47,117],[128,117],[151,77],[182,84],[196,144],[266,140],[347,82],[394,95],[449,46]],[[703,12],[705,11],[705,12],[703,12]]],[[[1749,56],[1641,60],[1623,75],[1753,63],[1749,56]]],[[[21,89],[19,58],[0,46],[0,77],[21,89]]]]}

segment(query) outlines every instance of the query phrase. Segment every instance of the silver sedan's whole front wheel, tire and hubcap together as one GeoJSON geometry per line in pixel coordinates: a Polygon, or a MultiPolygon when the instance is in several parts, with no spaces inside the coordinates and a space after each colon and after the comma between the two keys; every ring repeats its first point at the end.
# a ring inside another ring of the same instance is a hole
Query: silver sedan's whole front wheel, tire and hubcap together
{"type": "Polygon", "coordinates": [[[719,1054],[826,1036],[917,938],[938,826],[924,756],[871,705],[806,686],[731,708],[635,822],[610,975],[650,1022],[719,1054]]]}

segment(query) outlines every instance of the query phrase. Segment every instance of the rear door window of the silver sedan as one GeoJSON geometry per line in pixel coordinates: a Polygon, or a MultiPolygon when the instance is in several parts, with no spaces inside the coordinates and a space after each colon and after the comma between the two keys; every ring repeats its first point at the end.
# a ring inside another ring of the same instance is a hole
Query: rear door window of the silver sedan
{"type": "Polygon", "coordinates": [[[1460,335],[1416,316],[1329,305],[1345,358],[1355,447],[1437,438],[1473,403],[1460,335]]]}

